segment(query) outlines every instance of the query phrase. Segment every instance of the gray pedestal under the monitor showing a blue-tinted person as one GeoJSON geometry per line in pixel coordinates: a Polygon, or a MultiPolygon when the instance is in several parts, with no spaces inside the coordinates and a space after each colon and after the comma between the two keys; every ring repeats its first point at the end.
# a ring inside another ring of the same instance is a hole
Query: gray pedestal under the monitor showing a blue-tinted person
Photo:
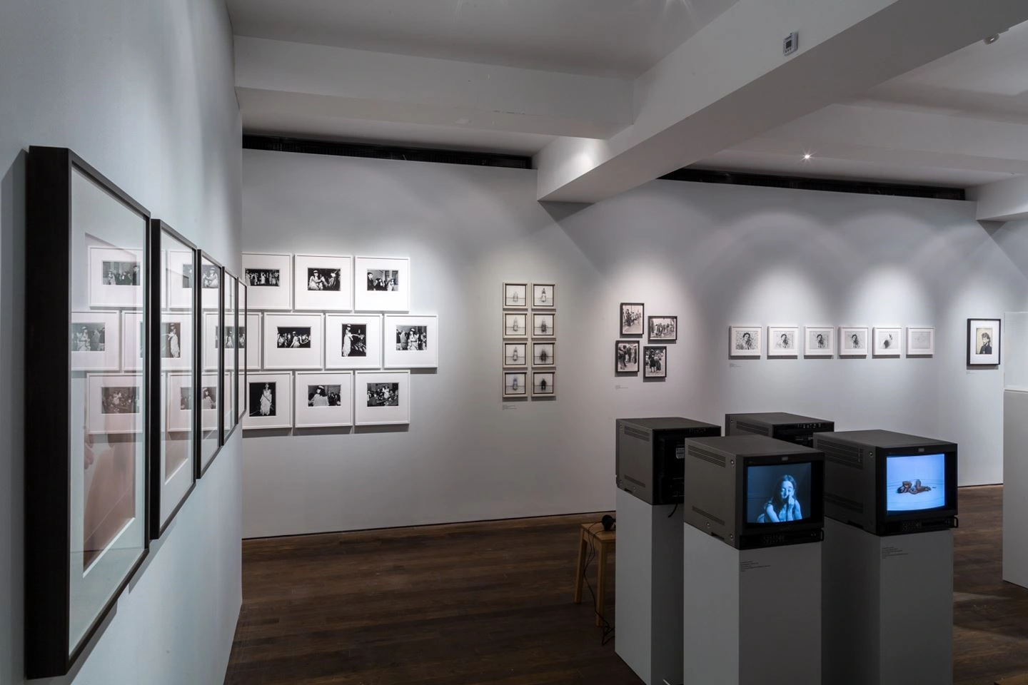
{"type": "Polygon", "coordinates": [[[821,543],[736,549],[684,529],[685,684],[820,685],[821,543]]]}

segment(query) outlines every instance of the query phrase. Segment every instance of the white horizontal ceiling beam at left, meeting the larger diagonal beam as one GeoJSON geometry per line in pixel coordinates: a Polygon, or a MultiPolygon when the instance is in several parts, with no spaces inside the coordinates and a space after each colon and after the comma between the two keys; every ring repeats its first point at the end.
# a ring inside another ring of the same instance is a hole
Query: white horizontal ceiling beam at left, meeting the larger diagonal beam
{"type": "Polygon", "coordinates": [[[251,113],[281,112],[609,138],[632,115],[625,79],[243,36],[235,86],[244,125],[251,113]]]}

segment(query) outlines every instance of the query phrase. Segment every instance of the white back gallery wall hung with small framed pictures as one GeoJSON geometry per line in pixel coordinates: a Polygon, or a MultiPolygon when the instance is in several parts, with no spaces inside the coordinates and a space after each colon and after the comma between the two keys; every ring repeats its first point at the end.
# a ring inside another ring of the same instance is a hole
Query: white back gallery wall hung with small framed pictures
{"type": "Polygon", "coordinates": [[[440,327],[409,427],[245,433],[245,537],[610,509],[622,416],[809,414],[955,441],[962,485],[1001,482],[1002,371],[966,368],[965,319],[1028,305],[1024,226],[669,181],[535,192],[533,170],[244,151],[245,252],[409,257],[411,312],[440,327]],[[505,280],[557,282],[555,402],[501,399],[505,280]],[[678,316],[666,380],[615,376],[623,301],[678,316]],[[929,326],[935,355],[729,359],[731,325],[929,326]]]}

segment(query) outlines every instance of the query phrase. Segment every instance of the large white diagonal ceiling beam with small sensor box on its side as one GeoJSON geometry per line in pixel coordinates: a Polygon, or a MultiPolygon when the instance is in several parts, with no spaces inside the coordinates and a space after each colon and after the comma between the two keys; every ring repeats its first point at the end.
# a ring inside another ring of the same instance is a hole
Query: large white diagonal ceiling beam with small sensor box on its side
{"type": "Polygon", "coordinates": [[[740,0],[636,80],[631,126],[543,149],[538,197],[610,197],[1025,20],[1024,0],[740,0]]]}

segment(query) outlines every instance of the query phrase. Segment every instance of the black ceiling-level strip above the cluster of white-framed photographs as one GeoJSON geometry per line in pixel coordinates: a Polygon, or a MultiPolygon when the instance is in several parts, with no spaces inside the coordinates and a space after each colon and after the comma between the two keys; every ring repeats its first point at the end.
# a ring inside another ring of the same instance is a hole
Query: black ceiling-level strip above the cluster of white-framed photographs
{"type": "Polygon", "coordinates": [[[502,166],[504,168],[531,168],[531,157],[506,155],[494,152],[464,152],[461,150],[436,150],[431,148],[408,148],[368,143],[341,143],[334,141],[307,141],[299,138],[276,136],[243,136],[245,150],[269,150],[272,152],[301,152],[309,155],[333,155],[336,157],[366,157],[372,159],[402,159],[405,161],[428,161],[437,164],[469,164],[472,166],[502,166]]]}

